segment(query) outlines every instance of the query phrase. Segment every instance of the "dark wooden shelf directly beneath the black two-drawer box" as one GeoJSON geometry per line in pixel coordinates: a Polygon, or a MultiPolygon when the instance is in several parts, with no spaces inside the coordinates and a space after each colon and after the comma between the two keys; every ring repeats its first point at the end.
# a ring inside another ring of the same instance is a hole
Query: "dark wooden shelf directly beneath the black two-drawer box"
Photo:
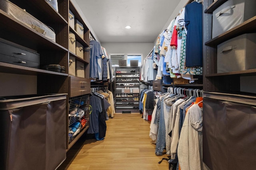
{"type": "Polygon", "coordinates": [[[26,66],[20,66],[16,64],[9,64],[9,63],[2,63],[0,62],[0,72],[5,73],[12,73],[12,74],[24,74],[24,75],[38,75],[38,74],[55,74],[60,76],[68,76],[68,74],[48,71],[48,70],[41,70],[38,68],[31,68],[26,66]]]}

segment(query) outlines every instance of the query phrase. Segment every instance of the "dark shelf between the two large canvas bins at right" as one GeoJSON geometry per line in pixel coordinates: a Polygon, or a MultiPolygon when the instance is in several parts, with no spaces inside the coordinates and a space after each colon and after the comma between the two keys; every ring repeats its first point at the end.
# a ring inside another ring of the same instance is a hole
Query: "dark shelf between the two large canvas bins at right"
{"type": "Polygon", "coordinates": [[[227,41],[227,39],[231,39],[237,37],[238,35],[242,35],[244,33],[255,33],[256,32],[256,16],[250,18],[247,21],[244,21],[240,25],[226,31],[225,33],[220,34],[218,37],[211,39],[204,43],[204,45],[208,45],[210,47],[216,47],[220,43],[227,41]]]}

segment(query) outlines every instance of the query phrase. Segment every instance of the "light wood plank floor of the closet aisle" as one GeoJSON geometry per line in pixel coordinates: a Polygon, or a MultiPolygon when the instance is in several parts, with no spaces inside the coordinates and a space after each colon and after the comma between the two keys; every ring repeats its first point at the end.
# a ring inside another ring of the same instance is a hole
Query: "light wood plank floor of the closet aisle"
{"type": "MultiPolygon", "coordinates": [[[[80,140],[67,152],[58,170],[168,170],[168,162],[156,156],[149,137],[150,122],[139,113],[116,113],[106,121],[103,141],[80,140]]],[[[88,138],[88,136],[87,136],[88,138]]]]}

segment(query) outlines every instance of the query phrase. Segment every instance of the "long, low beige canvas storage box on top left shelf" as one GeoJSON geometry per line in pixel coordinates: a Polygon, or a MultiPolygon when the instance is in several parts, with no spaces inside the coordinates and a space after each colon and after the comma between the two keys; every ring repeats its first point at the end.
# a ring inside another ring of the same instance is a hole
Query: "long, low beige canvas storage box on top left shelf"
{"type": "Polygon", "coordinates": [[[40,35],[43,35],[55,42],[56,35],[52,29],[44,25],[41,21],[37,20],[32,15],[28,14],[28,12],[22,10],[12,2],[8,0],[0,0],[0,9],[6,12],[8,15],[14,17],[16,20],[34,29],[40,33],[40,35]]]}

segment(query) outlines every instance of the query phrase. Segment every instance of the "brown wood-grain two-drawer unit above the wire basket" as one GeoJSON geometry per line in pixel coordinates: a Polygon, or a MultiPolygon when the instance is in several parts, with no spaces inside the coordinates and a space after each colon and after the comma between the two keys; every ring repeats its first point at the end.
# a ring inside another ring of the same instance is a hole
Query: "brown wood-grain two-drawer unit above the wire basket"
{"type": "Polygon", "coordinates": [[[70,97],[80,96],[90,93],[90,79],[80,77],[69,77],[69,95],[70,97]]]}

